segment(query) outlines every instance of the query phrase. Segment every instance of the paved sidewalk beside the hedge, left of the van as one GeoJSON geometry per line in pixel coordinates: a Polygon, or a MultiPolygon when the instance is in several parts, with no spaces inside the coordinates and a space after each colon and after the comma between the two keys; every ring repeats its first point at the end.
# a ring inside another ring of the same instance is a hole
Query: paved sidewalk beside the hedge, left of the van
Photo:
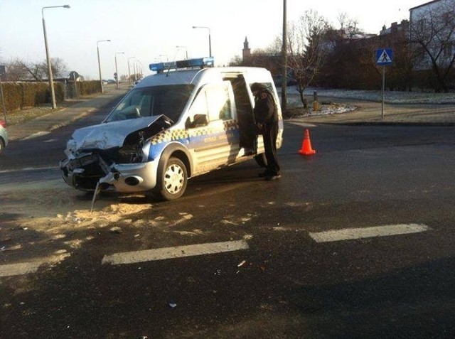
{"type": "Polygon", "coordinates": [[[105,88],[103,95],[97,95],[89,99],[80,99],[76,104],[63,109],[51,110],[48,114],[28,119],[18,124],[12,124],[7,127],[9,141],[21,140],[28,136],[38,134],[43,131],[53,131],[59,127],[66,126],[75,122],[77,119],[87,116],[91,112],[100,109],[113,100],[121,99],[127,88],[105,88]]]}

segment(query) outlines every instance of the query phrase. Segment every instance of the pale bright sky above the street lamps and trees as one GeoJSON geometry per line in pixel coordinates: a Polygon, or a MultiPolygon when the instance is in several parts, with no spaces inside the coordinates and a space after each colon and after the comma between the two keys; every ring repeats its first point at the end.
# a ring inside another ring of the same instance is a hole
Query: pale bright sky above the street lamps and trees
{"type": "MultiPolygon", "coordinates": [[[[409,19],[409,9],[428,1],[287,0],[287,21],[305,11],[317,11],[336,28],[347,14],[366,33],[409,19]]],[[[283,0],[0,0],[0,63],[20,59],[45,60],[42,9],[51,58],[60,58],[68,71],[99,79],[97,46],[103,79],[112,79],[150,63],[209,54],[209,33],[215,66],[242,56],[247,37],[252,52],[267,48],[282,35],[283,0]],[[193,28],[201,26],[205,28],[193,28]],[[100,42],[102,40],[110,42],[100,42]],[[183,46],[177,48],[176,46],[183,46]]]]}

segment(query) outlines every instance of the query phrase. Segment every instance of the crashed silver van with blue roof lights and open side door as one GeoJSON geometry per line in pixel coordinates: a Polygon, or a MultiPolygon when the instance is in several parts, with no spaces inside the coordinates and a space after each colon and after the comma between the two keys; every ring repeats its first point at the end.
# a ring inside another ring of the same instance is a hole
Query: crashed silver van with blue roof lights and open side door
{"type": "MultiPolygon", "coordinates": [[[[188,178],[255,158],[264,166],[255,134],[253,82],[267,85],[264,68],[214,68],[213,58],[155,63],[102,123],[77,129],[60,161],[77,190],[152,191],[181,197],[188,178]]],[[[279,108],[277,148],[282,145],[279,108]]]]}

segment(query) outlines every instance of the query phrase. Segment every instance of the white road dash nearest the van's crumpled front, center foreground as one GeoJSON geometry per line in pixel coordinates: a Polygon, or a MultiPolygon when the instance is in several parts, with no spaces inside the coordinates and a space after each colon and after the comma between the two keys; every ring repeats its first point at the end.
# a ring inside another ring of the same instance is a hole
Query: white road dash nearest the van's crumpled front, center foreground
{"type": "Polygon", "coordinates": [[[208,244],[193,244],[177,247],[164,247],[159,249],[146,249],[144,251],[123,252],[105,255],[105,257],[102,258],[102,264],[133,264],[135,262],[149,262],[154,260],[192,257],[203,254],[232,252],[248,248],[248,243],[245,240],[237,240],[232,242],[211,242],[208,244]]]}

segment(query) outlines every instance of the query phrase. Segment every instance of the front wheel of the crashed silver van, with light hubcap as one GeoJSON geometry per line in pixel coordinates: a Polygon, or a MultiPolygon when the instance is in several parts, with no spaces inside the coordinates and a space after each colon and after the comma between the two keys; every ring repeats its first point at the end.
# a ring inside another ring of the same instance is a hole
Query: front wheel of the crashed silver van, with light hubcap
{"type": "Polygon", "coordinates": [[[159,169],[157,180],[154,195],[161,200],[174,200],[185,193],[188,171],[179,158],[171,157],[165,166],[159,169]]]}

